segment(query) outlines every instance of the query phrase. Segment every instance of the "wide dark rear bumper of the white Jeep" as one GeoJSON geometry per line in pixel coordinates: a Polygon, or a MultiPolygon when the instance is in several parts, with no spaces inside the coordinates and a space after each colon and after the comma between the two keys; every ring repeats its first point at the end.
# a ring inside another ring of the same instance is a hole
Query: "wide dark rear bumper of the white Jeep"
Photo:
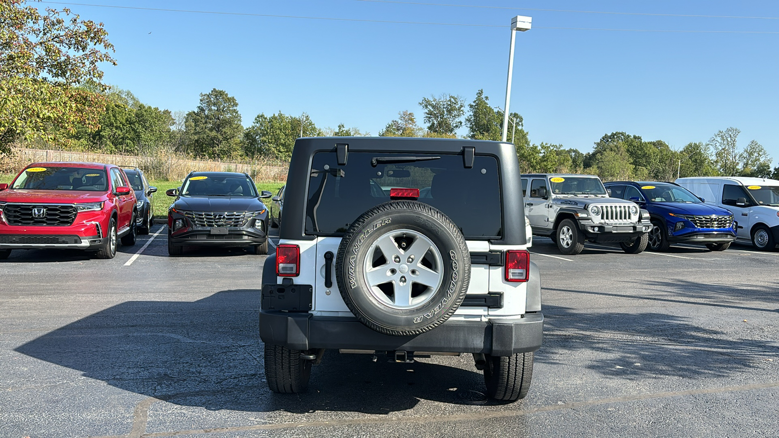
{"type": "Polygon", "coordinates": [[[447,320],[423,334],[400,337],[381,334],[351,318],[264,310],[259,314],[259,337],[263,342],[293,350],[343,348],[509,356],[541,348],[543,327],[544,315],[539,312],[513,319],[447,320]]]}

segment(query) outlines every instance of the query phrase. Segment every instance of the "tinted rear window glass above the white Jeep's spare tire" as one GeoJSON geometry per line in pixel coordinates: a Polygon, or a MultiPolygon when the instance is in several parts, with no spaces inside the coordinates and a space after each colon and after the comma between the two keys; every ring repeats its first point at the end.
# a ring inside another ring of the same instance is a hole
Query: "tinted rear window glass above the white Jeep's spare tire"
{"type": "MultiPolygon", "coordinates": [[[[474,157],[464,168],[461,155],[438,154],[434,160],[379,163],[374,157],[411,154],[352,152],[339,166],[334,152],[319,152],[308,182],[305,231],[342,235],[365,210],[390,200],[390,189],[419,189],[419,201],[449,216],[467,238],[499,238],[502,209],[498,161],[474,157]]],[[[415,157],[432,155],[415,154],[415,157]]]]}

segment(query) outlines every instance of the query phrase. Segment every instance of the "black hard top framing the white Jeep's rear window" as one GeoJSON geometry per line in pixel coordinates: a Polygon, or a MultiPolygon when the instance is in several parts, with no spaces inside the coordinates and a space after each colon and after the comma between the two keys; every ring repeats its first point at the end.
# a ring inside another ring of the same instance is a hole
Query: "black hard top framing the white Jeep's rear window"
{"type": "MultiPolygon", "coordinates": [[[[473,147],[476,155],[491,155],[498,159],[502,185],[503,238],[497,245],[524,245],[525,219],[520,181],[520,165],[511,143],[485,140],[433,139],[406,137],[307,137],[295,140],[292,150],[287,187],[284,189],[284,221],[280,238],[312,240],[305,235],[305,200],[311,161],[317,152],[336,152],[338,144],[347,144],[351,152],[376,154],[459,154],[473,147]]],[[[380,155],[379,155],[380,156],[380,155]]],[[[348,163],[348,157],[347,157],[348,163]]]]}

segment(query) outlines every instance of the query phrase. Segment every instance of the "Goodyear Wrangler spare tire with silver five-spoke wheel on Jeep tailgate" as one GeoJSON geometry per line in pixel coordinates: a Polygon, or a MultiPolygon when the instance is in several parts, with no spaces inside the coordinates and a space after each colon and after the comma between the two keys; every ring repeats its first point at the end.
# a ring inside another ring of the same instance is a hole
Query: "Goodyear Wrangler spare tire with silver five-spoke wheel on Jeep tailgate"
{"type": "Polygon", "coordinates": [[[336,257],[336,281],[351,313],[393,336],[421,334],[448,320],[470,278],[460,229],[416,201],[390,201],[361,214],[336,257]]]}

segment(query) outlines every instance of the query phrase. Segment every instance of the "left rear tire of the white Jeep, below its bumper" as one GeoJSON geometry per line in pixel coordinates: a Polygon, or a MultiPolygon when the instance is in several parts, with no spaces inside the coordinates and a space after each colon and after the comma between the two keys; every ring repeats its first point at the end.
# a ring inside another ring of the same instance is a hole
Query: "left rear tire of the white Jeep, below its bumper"
{"type": "Polygon", "coordinates": [[[265,380],[273,392],[297,394],[308,388],[311,361],[301,359],[300,350],[265,344],[265,380]]]}

